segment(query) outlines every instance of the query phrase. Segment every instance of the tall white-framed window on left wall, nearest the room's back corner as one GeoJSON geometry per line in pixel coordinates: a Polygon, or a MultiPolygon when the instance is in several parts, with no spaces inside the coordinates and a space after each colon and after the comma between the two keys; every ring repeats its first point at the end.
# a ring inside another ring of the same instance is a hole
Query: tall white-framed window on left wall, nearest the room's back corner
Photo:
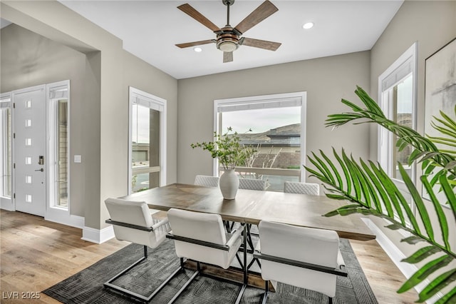
{"type": "Polygon", "coordinates": [[[166,101],[130,87],[129,193],[166,183],[166,101]]]}

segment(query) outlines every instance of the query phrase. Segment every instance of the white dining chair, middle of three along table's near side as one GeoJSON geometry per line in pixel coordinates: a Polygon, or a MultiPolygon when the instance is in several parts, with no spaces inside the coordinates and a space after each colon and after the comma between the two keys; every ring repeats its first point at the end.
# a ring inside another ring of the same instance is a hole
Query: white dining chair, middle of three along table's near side
{"type": "Polygon", "coordinates": [[[243,268],[244,283],[237,295],[236,303],[239,303],[245,288],[247,287],[247,254],[244,246],[243,261],[239,258],[238,250],[245,241],[244,226],[232,233],[226,233],[222,223],[222,216],[212,213],[198,213],[171,208],[167,212],[172,227],[172,233],[167,234],[167,238],[175,240],[176,255],[181,258],[181,268],[183,269],[183,259],[195,260],[197,271],[176,293],[170,303],[174,302],[179,295],[187,288],[197,275],[201,275],[200,263],[217,265],[227,269],[236,257],[243,268]]]}

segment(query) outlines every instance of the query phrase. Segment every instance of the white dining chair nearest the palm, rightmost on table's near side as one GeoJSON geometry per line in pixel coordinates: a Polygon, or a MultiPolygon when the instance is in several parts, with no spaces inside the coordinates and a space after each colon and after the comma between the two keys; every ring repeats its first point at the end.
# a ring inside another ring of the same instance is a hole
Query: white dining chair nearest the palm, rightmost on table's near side
{"type": "Polygon", "coordinates": [[[347,276],[336,231],[261,221],[254,257],[261,260],[261,278],[336,295],[337,275],[347,276]]]}

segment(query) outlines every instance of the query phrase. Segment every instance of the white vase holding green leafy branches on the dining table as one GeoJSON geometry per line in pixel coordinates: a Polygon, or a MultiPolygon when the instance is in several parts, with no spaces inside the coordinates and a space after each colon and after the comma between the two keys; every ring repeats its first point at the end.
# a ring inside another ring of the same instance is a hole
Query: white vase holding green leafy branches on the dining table
{"type": "Polygon", "coordinates": [[[192,143],[192,148],[202,148],[209,151],[212,158],[217,158],[220,165],[224,168],[220,176],[219,187],[224,199],[232,200],[236,197],[239,188],[239,178],[236,175],[235,168],[244,164],[249,155],[249,148],[240,143],[241,138],[237,132],[232,133],[231,127],[227,132],[220,135],[214,132],[214,141],[203,141],[192,143]]]}

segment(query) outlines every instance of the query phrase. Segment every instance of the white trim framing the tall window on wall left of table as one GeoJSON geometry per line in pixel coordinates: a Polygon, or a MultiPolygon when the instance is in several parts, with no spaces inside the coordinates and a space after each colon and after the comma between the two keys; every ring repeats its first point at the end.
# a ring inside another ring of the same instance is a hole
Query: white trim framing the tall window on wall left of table
{"type": "Polygon", "coordinates": [[[132,179],[132,116],[133,102],[160,112],[160,187],[166,182],[167,163],[167,101],[150,93],[128,87],[128,194],[131,194],[132,179]]]}

